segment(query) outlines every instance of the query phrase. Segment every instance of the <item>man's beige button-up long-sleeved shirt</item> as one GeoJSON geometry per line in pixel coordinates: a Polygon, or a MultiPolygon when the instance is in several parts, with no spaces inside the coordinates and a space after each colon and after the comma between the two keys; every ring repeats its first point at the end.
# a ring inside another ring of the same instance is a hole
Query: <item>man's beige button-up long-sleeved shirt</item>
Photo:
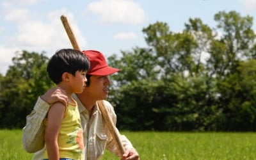
{"type": "MultiPolygon", "coordinates": [[[[77,98],[76,94],[73,94],[72,97],[76,100],[77,106],[79,108],[81,125],[83,127],[83,136],[84,136],[84,159],[95,160],[100,159],[104,154],[104,149],[108,149],[113,154],[118,155],[118,150],[116,150],[115,143],[111,134],[104,122],[104,119],[101,115],[99,107],[95,104],[93,108],[92,116],[90,117],[87,109],[83,106],[80,100],[77,98]]],[[[104,106],[108,109],[109,115],[111,116],[114,124],[116,124],[116,115],[111,104],[104,100],[104,106]]],[[[33,118],[28,119],[26,126],[22,131],[22,142],[25,150],[28,151],[28,147],[31,146],[31,138],[36,136],[37,128],[42,124],[45,115],[49,109],[49,104],[44,100],[38,98],[35,108],[32,111],[33,118]]],[[[31,115],[29,115],[31,116],[31,115]]],[[[122,144],[124,145],[125,150],[133,148],[131,142],[124,136],[120,135],[122,144]]],[[[38,142],[36,142],[38,143],[38,142]]],[[[33,159],[39,160],[43,159],[45,147],[42,150],[39,150],[35,153],[33,159]]]]}

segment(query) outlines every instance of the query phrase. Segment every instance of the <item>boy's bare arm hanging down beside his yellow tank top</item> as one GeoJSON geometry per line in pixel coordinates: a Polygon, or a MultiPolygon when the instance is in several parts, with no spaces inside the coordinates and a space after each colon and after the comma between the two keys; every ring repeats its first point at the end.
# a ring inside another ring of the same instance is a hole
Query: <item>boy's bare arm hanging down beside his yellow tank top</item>
{"type": "Polygon", "coordinates": [[[60,159],[58,134],[64,113],[65,106],[61,102],[56,102],[49,109],[48,122],[45,129],[45,144],[49,159],[60,159]]]}

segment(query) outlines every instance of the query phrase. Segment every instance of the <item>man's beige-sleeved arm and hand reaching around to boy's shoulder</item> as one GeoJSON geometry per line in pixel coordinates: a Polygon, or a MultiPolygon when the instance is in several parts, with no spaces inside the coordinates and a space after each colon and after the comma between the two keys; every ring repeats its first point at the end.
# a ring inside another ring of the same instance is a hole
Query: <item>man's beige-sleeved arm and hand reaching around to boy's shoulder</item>
{"type": "Polygon", "coordinates": [[[52,88],[38,97],[33,111],[26,117],[26,126],[22,129],[22,145],[27,152],[34,153],[44,148],[45,128],[42,122],[50,104],[58,101],[67,105],[66,92],[60,88],[52,88]]]}

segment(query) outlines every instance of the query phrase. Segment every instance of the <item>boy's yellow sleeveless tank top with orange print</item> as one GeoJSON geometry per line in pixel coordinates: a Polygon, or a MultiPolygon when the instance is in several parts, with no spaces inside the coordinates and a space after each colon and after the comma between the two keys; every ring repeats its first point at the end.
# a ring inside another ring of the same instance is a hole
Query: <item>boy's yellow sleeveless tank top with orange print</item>
{"type": "MultiPolygon", "coordinates": [[[[47,119],[44,124],[47,126],[47,119]]],[[[58,135],[60,158],[84,159],[83,129],[77,104],[68,104],[58,135]]],[[[48,159],[47,150],[44,158],[48,159]]]]}

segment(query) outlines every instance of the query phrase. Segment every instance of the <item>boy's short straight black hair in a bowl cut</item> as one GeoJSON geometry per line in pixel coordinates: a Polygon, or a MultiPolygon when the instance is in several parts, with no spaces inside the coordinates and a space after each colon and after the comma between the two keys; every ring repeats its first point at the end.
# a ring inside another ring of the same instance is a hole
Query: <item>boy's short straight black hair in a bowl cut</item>
{"type": "Polygon", "coordinates": [[[47,65],[50,79],[58,84],[62,81],[62,74],[68,72],[76,76],[77,71],[88,71],[90,61],[83,52],[75,49],[60,49],[51,57],[47,65]]]}

